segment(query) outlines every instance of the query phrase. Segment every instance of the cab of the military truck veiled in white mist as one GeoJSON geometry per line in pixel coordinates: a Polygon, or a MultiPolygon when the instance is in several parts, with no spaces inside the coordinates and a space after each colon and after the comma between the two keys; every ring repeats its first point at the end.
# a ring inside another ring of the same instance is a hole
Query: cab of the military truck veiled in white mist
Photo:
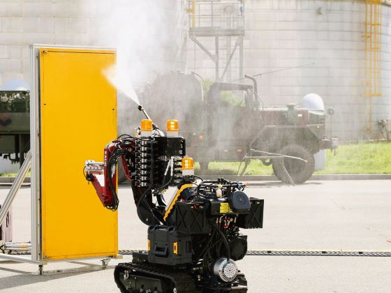
{"type": "MultiPolygon", "coordinates": [[[[205,127],[196,143],[188,143],[189,153],[205,161],[242,160],[248,142],[261,122],[259,103],[248,84],[215,82],[203,107],[205,127]],[[195,156],[195,155],[194,155],[195,156]]],[[[205,164],[202,162],[202,164],[205,164]]]]}

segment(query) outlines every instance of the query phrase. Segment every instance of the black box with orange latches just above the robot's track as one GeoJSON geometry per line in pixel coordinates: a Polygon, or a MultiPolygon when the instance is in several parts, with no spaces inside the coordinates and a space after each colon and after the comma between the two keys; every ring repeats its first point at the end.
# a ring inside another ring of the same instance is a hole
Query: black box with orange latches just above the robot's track
{"type": "Polygon", "coordinates": [[[148,262],[154,264],[191,264],[191,235],[172,226],[149,226],[148,262]]]}

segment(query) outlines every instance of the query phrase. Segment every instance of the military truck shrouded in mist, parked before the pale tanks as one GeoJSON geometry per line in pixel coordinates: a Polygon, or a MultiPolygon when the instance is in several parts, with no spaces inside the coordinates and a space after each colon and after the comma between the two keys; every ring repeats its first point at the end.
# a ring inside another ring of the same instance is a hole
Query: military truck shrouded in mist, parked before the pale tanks
{"type": "Polygon", "coordinates": [[[246,77],[251,84],[214,82],[205,90],[197,75],[172,72],[158,76],[140,100],[158,125],[167,117],[179,120],[186,153],[201,158],[201,173],[209,162],[242,161],[258,151],[281,181],[291,182],[286,171],[295,183],[307,181],[315,167],[313,155],[337,147],[336,139],[326,137],[325,111],[294,104],[265,107],[256,79],[246,77]],[[276,160],[278,154],[288,156],[283,164],[276,160]]]}

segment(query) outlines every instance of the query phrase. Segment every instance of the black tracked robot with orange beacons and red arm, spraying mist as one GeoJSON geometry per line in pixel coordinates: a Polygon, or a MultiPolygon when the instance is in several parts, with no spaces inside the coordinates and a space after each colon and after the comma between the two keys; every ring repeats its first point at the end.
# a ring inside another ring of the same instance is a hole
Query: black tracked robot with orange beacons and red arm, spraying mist
{"type": "Polygon", "coordinates": [[[131,263],[115,268],[119,290],[247,292],[237,267],[247,236],[239,229],[262,228],[263,200],[248,197],[242,183],[195,176],[178,121],[168,120],[164,134],[139,110],[147,119],[136,134],[117,137],[105,147],[103,163],[87,160],[84,167],[103,206],[115,211],[120,162],[131,179],[138,217],[148,225],[147,252],[133,253],[131,263]]]}

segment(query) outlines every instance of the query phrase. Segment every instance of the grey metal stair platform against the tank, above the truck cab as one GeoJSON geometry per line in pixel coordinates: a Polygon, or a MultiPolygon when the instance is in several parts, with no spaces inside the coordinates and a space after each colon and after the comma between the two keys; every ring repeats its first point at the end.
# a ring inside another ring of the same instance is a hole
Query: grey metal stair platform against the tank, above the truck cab
{"type": "Polygon", "coordinates": [[[214,61],[215,79],[242,78],[244,1],[188,0],[187,12],[189,38],[214,61]]]}

